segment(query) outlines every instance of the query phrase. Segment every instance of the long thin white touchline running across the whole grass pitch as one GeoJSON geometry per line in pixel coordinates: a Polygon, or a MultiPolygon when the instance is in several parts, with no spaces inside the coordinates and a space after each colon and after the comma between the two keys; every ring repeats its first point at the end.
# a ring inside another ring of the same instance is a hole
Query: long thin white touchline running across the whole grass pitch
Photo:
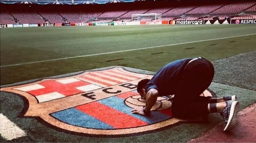
{"type": "Polygon", "coordinates": [[[200,41],[176,43],[176,44],[169,44],[169,45],[149,46],[149,47],[145,47],[145,48],[121,50],[121,51],[106,52],[106,53],[99,53],[99,54],[78,55],[78,56],[74,56],[74,57],[64,57],[64,58],[58,58],[58,59],[49,59],[49,60],[26,62],[26,63],[18,63],[18,64],[8,64],[8,65],[0,66],[0,68],[9,67],[9,66],[20,66],[20,65],[24,65],[24,64],[35,64],[35,63],[44,63],[44,62],[50,62],[50,61],[59,61],[59,60],[64,60],[64,59],[74,59],[74,58],[78,58],[78,57],[89,57],[89,56],[95,56],[95,55],[105,55],[105,54],[114,54],[114,53],[129,52],[129,51],[135,51],[135,50],[144,50],[144,49],[150,49],[150,48],[159,48],[159,47],[163,47],[163,46],[174,46],[174,45],[182,45],[182,44],[197,43],[197,42],[204,42],[204,41],[213,41],[213,40],[220,40],[220,39],[236,38],[236,37],[250,36],[250,35],[255,35],[255,34],[256,33],[254,33],[254,34],[246,34],[246,35],[239,35],[239,36],[224,37],[224,38],[216,38],[216,39],[207,39],[207,40],[200,40],[200,41]]]}

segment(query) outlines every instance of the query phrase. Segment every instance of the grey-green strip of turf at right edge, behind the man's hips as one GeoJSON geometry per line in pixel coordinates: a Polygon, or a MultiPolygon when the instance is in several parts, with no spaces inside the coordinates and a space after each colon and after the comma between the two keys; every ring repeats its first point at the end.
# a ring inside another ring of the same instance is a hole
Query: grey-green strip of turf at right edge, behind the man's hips
{"type": "Polygon", "coordinates": [[[214,82],[256,91],[256,51],[213,61],[214,82]]]}

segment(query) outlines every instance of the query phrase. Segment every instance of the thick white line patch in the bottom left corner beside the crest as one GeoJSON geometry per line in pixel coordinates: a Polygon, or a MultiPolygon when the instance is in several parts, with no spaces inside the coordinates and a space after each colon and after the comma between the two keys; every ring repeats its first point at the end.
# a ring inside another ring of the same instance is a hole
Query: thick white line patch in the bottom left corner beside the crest
{"type": "Polygon", "coordinates": [[[15,123],[11,122],[6,116],[0,113],[0,134],[4,139],[12,140],[26,136],[24,130],[20,129],[15,123]]]}

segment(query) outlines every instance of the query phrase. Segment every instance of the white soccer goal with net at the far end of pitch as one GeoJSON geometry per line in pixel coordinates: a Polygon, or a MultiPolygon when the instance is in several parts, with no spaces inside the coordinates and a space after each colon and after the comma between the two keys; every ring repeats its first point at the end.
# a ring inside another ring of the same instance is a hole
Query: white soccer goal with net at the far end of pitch
{"type": "Polygon", "coordinates": [[[132,14],[132,21],[145,21],[147,24],[162,24],[162,14],[146,13],[132,14]]]}

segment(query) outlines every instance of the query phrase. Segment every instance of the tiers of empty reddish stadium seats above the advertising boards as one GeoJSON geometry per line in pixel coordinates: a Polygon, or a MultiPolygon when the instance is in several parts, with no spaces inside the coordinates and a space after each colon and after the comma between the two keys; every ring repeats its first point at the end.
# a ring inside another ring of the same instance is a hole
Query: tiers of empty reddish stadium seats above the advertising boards
{"type": "MultiPolygon", "coordinates": [[[[47,1],[56,2],[56,0],[47,1]]],[[[87,1],[89,2],[90,0],[87,1]]],[[[162,20],[198,20],[202,18],[204,20],[212,20],[212,18],[216,16],[220,20],[225,20],[229,17],[234,17],[236,19],[250,19],[254,18],[256,14],[256,2],[254,1],[198,2],[192,6],[179,3],[166,4],[166,2],[160,5],[152,4],[153,6],[147,6],[142,3],[137,5],[130,4],[130,6],[125,8],[109,4],[106,6],[74,5],[75,7],[72,5],[34,5],[33,9],[28,7],[28,5],[6,6],[5,4],[1,4],[0,23],[126,22],[131,21],[132,14],[145,13],[160,13],[162,14],[162,20]],[[2,9],[3,7],[4,9],[2,9]]],[[[142,21],[148,20],[150,21],[150,19],[142,19],[142,21]]]]}

